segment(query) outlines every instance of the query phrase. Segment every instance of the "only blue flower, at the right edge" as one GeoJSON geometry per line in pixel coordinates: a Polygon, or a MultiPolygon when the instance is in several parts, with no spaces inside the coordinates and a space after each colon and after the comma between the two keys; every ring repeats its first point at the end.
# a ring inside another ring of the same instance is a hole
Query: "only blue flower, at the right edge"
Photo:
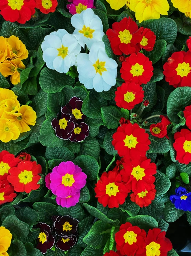
{"type": "Polygon", "coordinates": [[[175,195],[170,196],[170,200],[175,208],[191,212],[191,192],[188,193],[184,187],[178,187],[175,193],[175,195]]]}

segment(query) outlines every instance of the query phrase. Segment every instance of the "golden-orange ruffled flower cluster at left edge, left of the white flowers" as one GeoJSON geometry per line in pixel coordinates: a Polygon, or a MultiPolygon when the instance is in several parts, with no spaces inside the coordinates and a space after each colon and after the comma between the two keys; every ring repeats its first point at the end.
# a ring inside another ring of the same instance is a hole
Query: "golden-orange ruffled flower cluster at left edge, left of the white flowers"
{"type": "Polygon", "coordinates": [[[25,69],[22,60],[27,59],[28,54],[26,46],[19,40],[19,37],[0,36],[0,73],[4,77],[11,76],[10,80],[13,85],[20,82],[18,68],[25,69]]]}

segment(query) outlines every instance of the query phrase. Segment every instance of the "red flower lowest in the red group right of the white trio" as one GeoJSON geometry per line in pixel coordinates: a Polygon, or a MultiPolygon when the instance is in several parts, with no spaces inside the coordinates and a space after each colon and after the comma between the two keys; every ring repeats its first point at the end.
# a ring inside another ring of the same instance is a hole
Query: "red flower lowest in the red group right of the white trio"
{"type": "Polygon", "coordinates": [[[143,101],[144,91],[135,82],[126,82],[117,88],[115,95],[116,105],[130,110],[143,101]]]}

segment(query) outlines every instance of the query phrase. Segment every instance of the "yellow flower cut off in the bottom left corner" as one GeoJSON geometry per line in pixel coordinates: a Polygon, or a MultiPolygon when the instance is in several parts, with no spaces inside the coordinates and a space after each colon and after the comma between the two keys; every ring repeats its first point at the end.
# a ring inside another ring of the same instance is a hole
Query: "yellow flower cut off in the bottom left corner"
{"type": "MultiPolygon", "coordinates": [[[[5,253],[11,245],[12,234],[5,227],[0,227],[0,254],[5,253]]],[[[6,254],[3,254],[6,255],[6,254]]]]}

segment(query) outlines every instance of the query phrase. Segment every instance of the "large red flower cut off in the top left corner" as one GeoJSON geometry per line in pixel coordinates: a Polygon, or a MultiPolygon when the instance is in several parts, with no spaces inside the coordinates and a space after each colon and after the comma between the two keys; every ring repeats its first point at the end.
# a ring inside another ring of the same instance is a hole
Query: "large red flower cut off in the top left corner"
{"type": "Polygon", "coordinates": [[[0,3],[0,14],[7,21],[24,24],[35,13],[35,7],[34,0],[3,0],[0,3]]]}

